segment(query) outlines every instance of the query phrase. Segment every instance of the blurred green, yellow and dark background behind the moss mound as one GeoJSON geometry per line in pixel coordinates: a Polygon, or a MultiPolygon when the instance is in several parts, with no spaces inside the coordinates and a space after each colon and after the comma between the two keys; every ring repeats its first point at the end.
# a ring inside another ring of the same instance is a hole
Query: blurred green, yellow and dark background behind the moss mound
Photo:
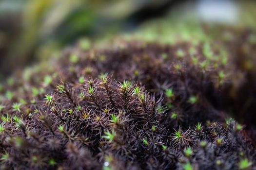
{"type": "Polygon", "coordinates": [[[77,42],[208,41],[223,26],[256,30],[255,18],[255,0],[0,0],[0,77],[77,42]]]}

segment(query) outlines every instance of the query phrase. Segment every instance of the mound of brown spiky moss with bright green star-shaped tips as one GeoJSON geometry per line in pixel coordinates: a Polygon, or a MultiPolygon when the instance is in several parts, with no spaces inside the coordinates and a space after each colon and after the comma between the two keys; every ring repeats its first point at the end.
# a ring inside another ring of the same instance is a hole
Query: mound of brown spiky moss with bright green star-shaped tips
{"type": "Polygon", "coordinates": [[[220,101],[244,81],[228,59],[209,44],[125,42],[17,73],[2,92],[1,169],[253,168],[255,145],[220,101]]]}

